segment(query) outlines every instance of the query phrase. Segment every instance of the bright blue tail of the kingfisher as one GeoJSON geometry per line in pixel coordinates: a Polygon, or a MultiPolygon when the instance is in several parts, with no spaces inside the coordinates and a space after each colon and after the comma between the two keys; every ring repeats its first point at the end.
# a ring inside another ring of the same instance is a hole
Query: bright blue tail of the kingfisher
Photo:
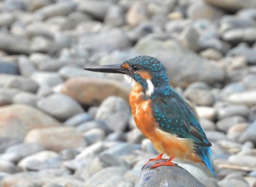
{"type": "Polygon", "coordinates": [[[211,164],[212,156],[211,156],[211,148],[206,147],[203,145],[198,145],[197,147],[197,153],[200,156],[200,158],[203,160],[204,164],[206,164],[206,167],[212,172],[214,176],[217,176],[214,172],[214,167],[211,164]]]}

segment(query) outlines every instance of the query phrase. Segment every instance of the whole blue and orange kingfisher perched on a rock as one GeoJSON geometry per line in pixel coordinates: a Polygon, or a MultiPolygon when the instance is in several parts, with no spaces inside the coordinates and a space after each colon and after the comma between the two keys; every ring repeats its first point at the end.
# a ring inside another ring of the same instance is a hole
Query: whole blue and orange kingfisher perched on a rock
{"type": "MultiPolygon", "coordinates": [[[[189,104],[172,88],[165,66],[151,56],[136,56],[122,64],[89,66],[92,72],[118,73],[132,82],[129,104],[136,126],[159,151],[151,166],[173,166],[174,158],[205,164],[216,176],[211,163],[211,142],[189,104]],[[169,159],[162,159],[163,155],[169,159]]],[[[147,163],[148,164],[148,163],[147,163]]]]}

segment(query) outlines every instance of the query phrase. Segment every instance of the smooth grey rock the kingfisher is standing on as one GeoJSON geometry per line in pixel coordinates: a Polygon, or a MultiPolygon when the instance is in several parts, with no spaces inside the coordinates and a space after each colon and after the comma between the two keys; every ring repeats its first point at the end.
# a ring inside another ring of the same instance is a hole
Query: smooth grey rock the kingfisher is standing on
{"type": "Polygon", "coordinates": [[[135,183],[135,187],[142,186],[204,186],[182,167],[157,167],[151,169],[157,161],[152,161],[144,167],[135,183]]]}

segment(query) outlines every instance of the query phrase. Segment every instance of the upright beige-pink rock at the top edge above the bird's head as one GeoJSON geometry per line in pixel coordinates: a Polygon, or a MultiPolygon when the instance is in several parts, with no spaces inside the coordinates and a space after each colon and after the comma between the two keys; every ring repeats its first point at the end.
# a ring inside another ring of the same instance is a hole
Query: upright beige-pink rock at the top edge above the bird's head
{"type": "Polygon", "coordinates": [[[139,23],[148,19],[146,12],[146,4],[142,1],[137,1],[129,7],[126,20],[130,26],[137,26],[139,23]]]}

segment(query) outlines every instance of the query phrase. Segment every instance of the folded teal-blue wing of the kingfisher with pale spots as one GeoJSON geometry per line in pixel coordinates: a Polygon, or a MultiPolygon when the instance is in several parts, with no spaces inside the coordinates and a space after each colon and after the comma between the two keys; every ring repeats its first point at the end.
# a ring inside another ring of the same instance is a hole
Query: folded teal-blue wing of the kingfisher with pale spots
{"type": "Polygon", "coordinates": [[[175,91],[170,96],[154,99],[151,107],[162,131],[192,139],[197,145],[211,146],[194,112],[175,91]]]}

